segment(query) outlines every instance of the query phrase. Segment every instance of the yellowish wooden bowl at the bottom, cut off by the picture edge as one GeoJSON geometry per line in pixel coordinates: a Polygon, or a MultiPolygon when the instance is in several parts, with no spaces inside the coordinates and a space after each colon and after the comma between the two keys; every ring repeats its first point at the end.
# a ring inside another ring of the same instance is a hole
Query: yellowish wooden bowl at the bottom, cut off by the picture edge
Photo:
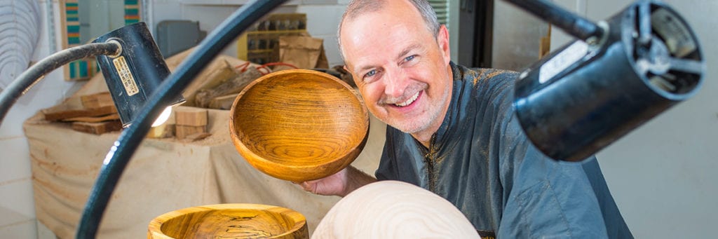
{"type": "Polygon", "coordinates": [[[167,212],[149,222],[147,238],[309,238],[307,220],[294,210],[256,204],[220,204],[167,212]]]}

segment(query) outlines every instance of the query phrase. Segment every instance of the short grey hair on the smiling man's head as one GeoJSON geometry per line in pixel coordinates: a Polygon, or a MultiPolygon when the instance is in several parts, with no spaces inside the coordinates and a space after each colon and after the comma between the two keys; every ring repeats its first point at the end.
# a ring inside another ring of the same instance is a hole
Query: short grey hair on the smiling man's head
{"type": "MultiPolygon", "coordinates": [[[[344,22],[355,19],[362,14],[379,11],[384,7],[386,1],[396,0],[350,1],[350,3],[347,5],[347,10],[344,11],[344,15],[342,15],[342,21],[339,23],[339,29],[337,29],[337,44],[339,44],[339,52],[342,55],[342,59],[344,59],[344,50],[342,49],[341,37],[342,26],[344,25],[344,22]]],[[[426,0],[409,0],[409,2],[411,2],[411,4],[414,5],[417,10],[419,10],[419,14],[421,14],[421,18],[424,19],[424,24],[426,24],[426,29],[428,29],[429,32],[432,32],[432,34],[434,34],[434,37],[437,37],[437,35],[439,34],[439,20],[437,19],[437,13],[432,8],[432,4],[429,4],[429,1],[426,0]]]]}

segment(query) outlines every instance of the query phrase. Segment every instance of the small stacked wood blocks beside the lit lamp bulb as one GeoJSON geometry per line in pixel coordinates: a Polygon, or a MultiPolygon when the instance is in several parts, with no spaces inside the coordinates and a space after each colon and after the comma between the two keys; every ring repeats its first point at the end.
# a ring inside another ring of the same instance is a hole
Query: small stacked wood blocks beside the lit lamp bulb
{"type": "Polygon", "coordinates": [[[177,139],[197,141],[210,136],[210,133],[207,133],[207,109],[179,107],[174,109],[174,116],[177,139]]]}

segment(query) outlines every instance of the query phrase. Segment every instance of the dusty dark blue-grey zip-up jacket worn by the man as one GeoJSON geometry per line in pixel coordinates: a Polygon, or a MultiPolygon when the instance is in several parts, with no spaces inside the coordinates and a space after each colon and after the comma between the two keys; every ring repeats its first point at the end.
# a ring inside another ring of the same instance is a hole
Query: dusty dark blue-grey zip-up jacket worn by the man
{"type": "Polygon", "coordinates": [[[377,179],[444,197],[482,236],[633,238],[595,157],[554,161],[528,141],[511,106],[516,72],[452,70],[449,111],[429,149],[387,126],[377,179]]]}

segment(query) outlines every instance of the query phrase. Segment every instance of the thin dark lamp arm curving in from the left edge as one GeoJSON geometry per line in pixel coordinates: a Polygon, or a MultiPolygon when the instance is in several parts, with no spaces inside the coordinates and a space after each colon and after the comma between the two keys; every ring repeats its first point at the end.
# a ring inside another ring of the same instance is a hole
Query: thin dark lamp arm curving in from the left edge
{"type": "Polygon", "coordinates": [[[120,45],[116,43],[83,44],[55,52],[55,54],[35,63],[32,67],[22,72],[5,90],[0,92],[0,124],[2,124],[3,119],[17,100],[27,93],[27,90],[30,90],[33,85],[39,83],[47,73],[74,60],[96,55],[118,54],[119,48],[120,45]]]}

